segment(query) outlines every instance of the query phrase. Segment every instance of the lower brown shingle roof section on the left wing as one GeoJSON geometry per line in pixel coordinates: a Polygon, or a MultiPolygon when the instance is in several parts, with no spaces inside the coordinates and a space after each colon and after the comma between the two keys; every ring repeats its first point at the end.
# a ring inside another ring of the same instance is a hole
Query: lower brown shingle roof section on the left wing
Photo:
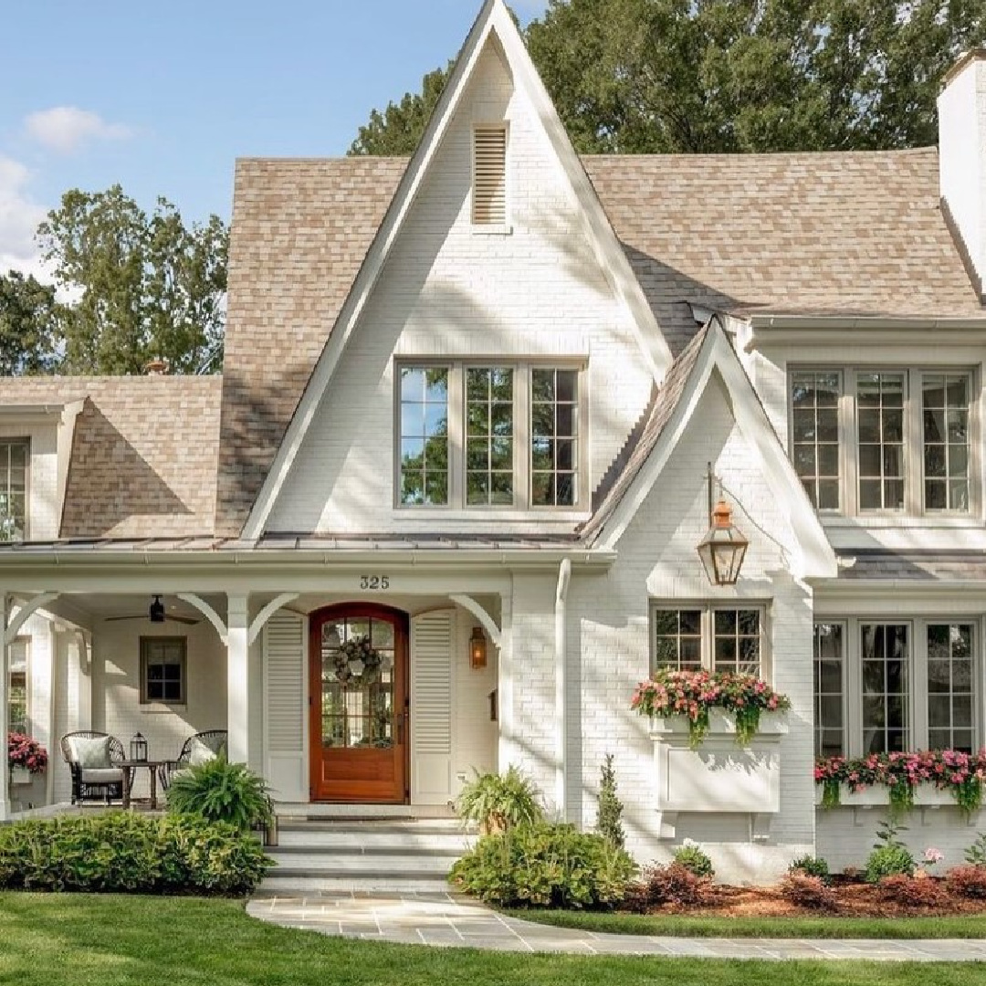
{"type": "Polygon", "coordinates": [[[61,537],[185,537],[215,526],[218,377],[22,377],[0,405],[84,401],[61,537]]]}

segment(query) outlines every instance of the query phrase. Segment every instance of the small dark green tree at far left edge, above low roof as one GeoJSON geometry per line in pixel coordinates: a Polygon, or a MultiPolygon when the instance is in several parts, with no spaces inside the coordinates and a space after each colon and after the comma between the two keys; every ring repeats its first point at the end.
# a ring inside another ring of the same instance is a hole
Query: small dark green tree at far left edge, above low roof
{"type": "Polygon", "coordinates": [[[16,270],[0,274],[0,376],[52,372],[61,311],[49,284],[16,270]]]}

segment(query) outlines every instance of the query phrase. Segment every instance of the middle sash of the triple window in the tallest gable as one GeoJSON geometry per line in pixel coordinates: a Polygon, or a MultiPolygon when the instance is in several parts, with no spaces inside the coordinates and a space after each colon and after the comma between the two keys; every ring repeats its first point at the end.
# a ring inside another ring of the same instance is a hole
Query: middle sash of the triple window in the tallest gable
{"type": "Polygon", "coordinates": [[[514,503],[514,371],[465,371],[465,502],[514,503]]]}

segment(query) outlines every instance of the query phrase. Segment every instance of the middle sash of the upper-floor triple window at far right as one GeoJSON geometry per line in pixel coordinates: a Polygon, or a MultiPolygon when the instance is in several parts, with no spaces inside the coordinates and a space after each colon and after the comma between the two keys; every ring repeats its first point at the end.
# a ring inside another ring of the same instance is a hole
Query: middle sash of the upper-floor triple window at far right
{"type": "Polygon", "coordinates": [[[904,375],[862,373],[856,380],[861,510],[904,506],[904,375]]]}

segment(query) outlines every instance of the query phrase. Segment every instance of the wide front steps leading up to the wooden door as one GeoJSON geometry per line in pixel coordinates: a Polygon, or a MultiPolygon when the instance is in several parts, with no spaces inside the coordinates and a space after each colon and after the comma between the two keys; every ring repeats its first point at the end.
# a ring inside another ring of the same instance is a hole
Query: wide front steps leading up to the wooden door
{"type": "Polygon", "coordinates": [[[278,806],[278,845],[267,850],[277,865],[262,891],[444,893],[452,865],[476,838],[455,818],[418,817],[416,809],[411,817],[406,806],[398,806],[401,814],[365,805],[304,808],[303,817],[278,806]]]}

